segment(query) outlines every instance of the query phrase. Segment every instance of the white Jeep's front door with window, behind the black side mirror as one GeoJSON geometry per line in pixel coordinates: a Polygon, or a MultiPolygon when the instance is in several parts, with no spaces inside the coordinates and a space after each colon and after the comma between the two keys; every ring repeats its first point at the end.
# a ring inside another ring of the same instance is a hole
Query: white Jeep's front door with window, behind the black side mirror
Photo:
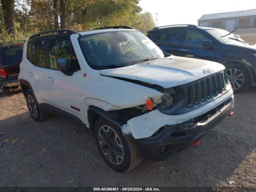
{"type": "Polygon", "coordinates": [[[57,113],[58,109],[63,110],[82,120],[84,103],[80,88],[82,77],[71,42],[61,39],[48,40],[47,46],[50,70],[46,72],[46,85],[54,110],[57,113]],[[66,58],[72,63],[74,72],[72,76],[67,76],[58,70],[56,61],[59,58],[66,58]]]}

